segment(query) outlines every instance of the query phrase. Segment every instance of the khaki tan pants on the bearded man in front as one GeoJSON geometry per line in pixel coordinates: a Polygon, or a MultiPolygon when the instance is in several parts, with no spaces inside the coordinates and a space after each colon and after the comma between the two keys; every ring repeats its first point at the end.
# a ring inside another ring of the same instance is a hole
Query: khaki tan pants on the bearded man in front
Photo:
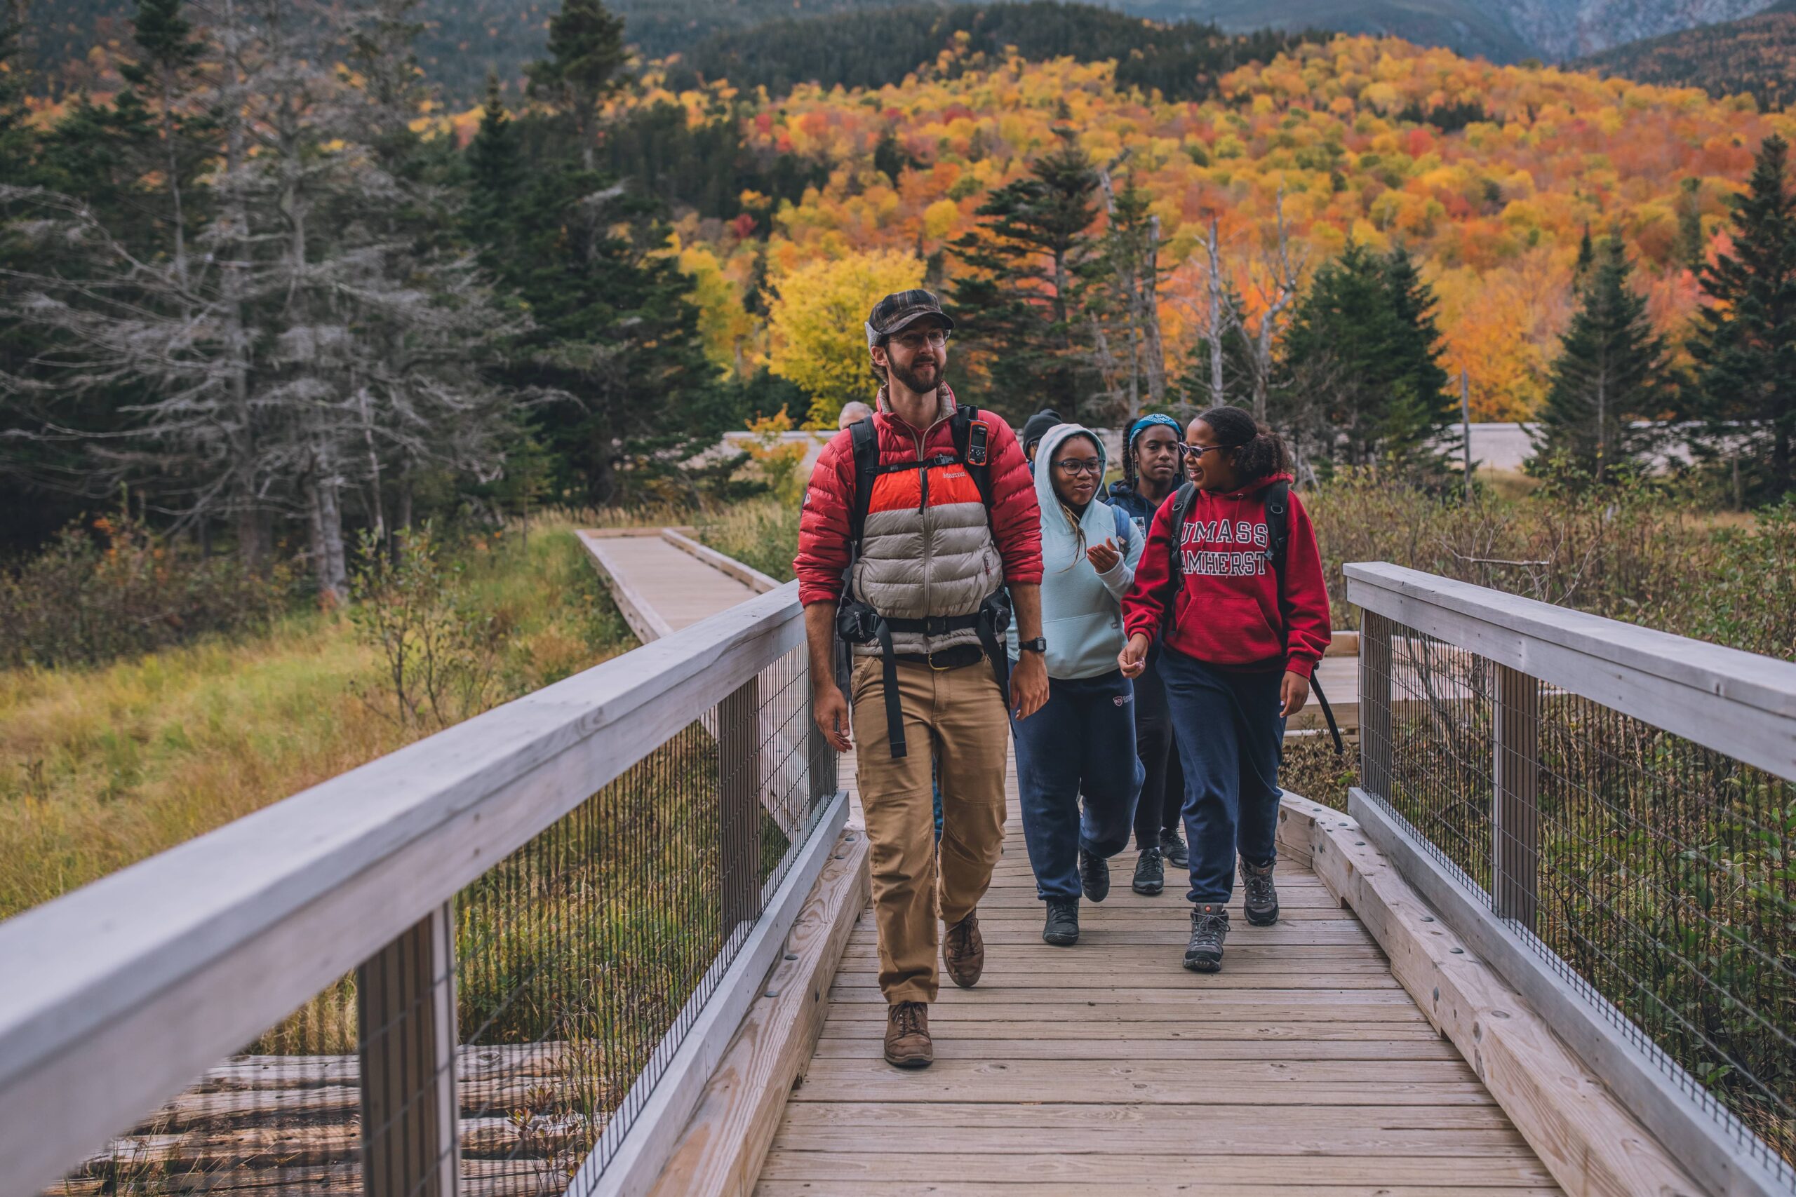
{"type": "Polygon", "coordinates": [[[973,912],[1004,849],[1009,720],[990,662],[938,671],[900,660],[909,756],[894,761],[880,673],[876,657],[855,660],[855,761],[873,847],[880,991],[887,1003],[934,1001],[936,919],[952,926],[973,912]],[[930,756],[941,782],[939,870],[930,756]]]}

